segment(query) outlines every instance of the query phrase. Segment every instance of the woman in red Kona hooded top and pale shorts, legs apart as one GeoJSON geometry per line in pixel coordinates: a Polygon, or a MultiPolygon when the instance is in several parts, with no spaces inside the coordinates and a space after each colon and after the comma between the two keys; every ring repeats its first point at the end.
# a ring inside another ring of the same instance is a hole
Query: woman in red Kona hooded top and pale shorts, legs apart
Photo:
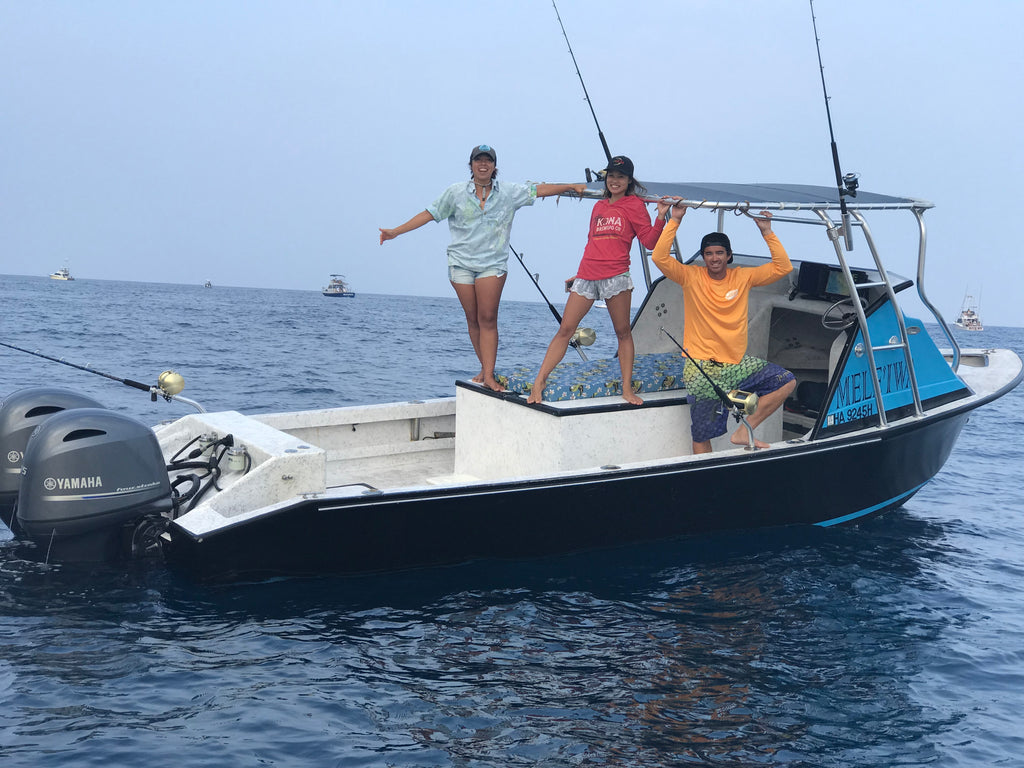
{"type": "Polygon", "coordinates": [[[645,189],[633,177],[633,161],[617,156],[608,161],[604,175],[604,200],[594,204],[590,216],[590,234],[583,260],[571,279],[569,298],[562,312],[562,324],[548,345],[544,362],[529,392],[527,402],[541,402],[548,376],[554,371],[569,345],[581,321],[598,299],[603,299],[618,338],[618,365],[623,373],[623,398],[634,406],[643,402],[633,391],[633,334],[630,331],[633,281],[630,279],[630,247],[638,238],[650,249],[665,228],[668,203],[657,204],[657,216],[651,224],[646,205],[637,197],[645,189]]]}

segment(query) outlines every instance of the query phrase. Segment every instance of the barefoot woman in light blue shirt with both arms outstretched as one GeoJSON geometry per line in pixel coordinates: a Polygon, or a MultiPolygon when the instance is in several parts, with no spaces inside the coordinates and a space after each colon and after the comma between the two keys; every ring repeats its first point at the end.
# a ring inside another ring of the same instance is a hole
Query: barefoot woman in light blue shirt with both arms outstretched
{"type": "Polygon", "coordinates": [[[574,191],[586,184],[517,184],[498,182],[498,155],[486,144],[469,155],[469,181],[452,184],[426,210],[393,229],[381,229],[381,245],[428,221],[447,219],[449,280],[466,312],[469,339],[480,360],[473,381],[503,391],[495,379],[498,358],[498,304],[508,276],[509,233],[515,212],[538,198],[574,191]]]}

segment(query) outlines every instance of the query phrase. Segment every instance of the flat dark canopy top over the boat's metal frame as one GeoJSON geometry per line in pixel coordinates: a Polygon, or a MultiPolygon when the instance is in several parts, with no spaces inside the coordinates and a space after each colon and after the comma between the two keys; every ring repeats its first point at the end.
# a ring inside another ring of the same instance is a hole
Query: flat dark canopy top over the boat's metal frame
{"type": "MultiPolygon", "coordinates": [[[[725,184],[718,182],[643,181],[647,188],[644,200],[653,202],[663,197],[682,198],[692,208],[724,208],[752,210],[839,210],[839,190],[835,186],[813,184],[725,184]]],[[[604,194],[604,184],[587,185],[587,197],[604,194]],[[595,195],[596,193],[596,195],[595,195]]],[[[890,195],[858,190],[856,197],[847,196],[849,210],[926,209],[932,204],[915,198],[895,198],[890,195]]]]}

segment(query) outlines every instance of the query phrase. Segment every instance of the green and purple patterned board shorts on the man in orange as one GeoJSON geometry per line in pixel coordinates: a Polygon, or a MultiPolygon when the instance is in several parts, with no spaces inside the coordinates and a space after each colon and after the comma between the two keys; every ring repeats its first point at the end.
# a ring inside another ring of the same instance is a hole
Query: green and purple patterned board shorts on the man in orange
{"type": "MultiPolygon", "coordinates": [[[[741,389],[761,397],[796,379],[784,368],[750,354],[743,355],[743,358],[736,364],[697,361],[705,373],[725,392],[741,389]]],[[[708,379],[690,360],[686,360],[686,366],[683,368],[683,381],[686,382],[686,389],[689,392],[687,399],[690,402],[690,431],[693,441],[703,442],[725,434],[729,427],[729,411],[719,408],[723,404],[722,400],[708,379]]]]}

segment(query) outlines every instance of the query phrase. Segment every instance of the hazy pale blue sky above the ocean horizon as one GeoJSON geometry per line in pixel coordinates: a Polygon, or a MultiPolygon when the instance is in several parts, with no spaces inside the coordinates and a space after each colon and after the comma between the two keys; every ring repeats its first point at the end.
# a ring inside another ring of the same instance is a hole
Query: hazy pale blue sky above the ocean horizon
{"type": "MultiPolygon", "coordinates": [[[[835,182],[806,0],[558,11],[641,180],[835,182]]],[[[970,293],[986,325],[1024,326],[1024,3],[814,12],[844,172],[935,204],[927,297],[948,322],[970,293]]],[[[378,228],[468,178],[478,143],[510,181],[581,181],[605,160],[550,0],[0,0],[0,274],[318,290],[341,272],[360,294],[452,296],[446,224],[384,246],[378,228]]],[[[512,245],[559,305],[591,205],[516,215],[512,245]]],[[[695,249],[716,220],[691,214],[695,249]]],[[[869,223],[914,278],[916,224],[869,223]]],[[[830,260],[818,227],[792,229],[776,227],[791,256],[830,260]]],[[[726,231],[766,254],[749,219],[726,231]]],[[[862,242],[850,259],[870,263],[862,242]]],[[[509,269],[506,298],[541,300],[509,269]]]]}

